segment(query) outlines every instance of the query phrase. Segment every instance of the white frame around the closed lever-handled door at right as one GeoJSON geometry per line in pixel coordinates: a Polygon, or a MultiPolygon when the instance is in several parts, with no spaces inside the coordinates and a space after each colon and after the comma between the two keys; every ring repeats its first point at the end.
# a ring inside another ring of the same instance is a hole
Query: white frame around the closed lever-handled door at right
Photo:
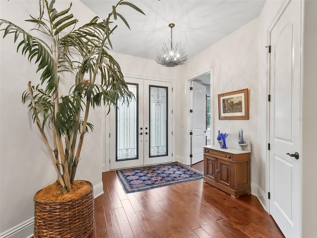
{"type": "MultiPolygon", "coordinates": [[[[273,30],[274,26],[277,24],[278,20],[280,19],[280,17],[282,16],[282,14],[284,13],[284,11],[286,10],[287,6],[289,5],[289,3],[291,2],[291,0],[284,0],[284,2],[282,3],[280,9],[278,10],[278,12],[276,13],[274,19],[271,21],[269,27],[267,28],[267,39],[266,39],[266,46],[270,46],[270,32],[273,30]]],[[[303,13],[301,12],[301,28],[303,29],[303,13]]],[[[301,36],[302,38],[302,36],[301,36]]],[[[300,42],[300,47],[302,48],[302,40],[300,42]]],[[[270,82],[271,82],[271,77],[270,77],[270,55],[267,51],[267,67],[266,67],[266,95],[270,94],[270,82]]],[[[300,65],[302,67],[302,51],[300,52],[300,65]]],[[[302,73],[300,73],[300,79],[302,82],[302,73]]],[[[300,83],[302,84],[302,83],[300,83]]],[[[300,106],[301,107],[301,106],[300,106]]],[[[302,112],[300,112],[299,117],[301,117],[302,112]]],[[[300,127],[302,127],[302,123],[300,122],[300,127]]],[[[300,151],[299,154],[302,154],[302,142],[301,142],[301,138],[300,138],[300,151]]],[[[270,143],[270,102],[268,102],[268,100],[266,101],[266,145],[265,147],[267,148],[268,143],[270,143]]],[[[300,166],[300,174],[302,173],[302,160],[299,161],[299,166],[300,166]]],[[[265,210],[268,212],[268,214],[270,214],[270,201],[267,198],[267,194],[270,191],[270,151],[266,149],[266,166],[265,166],[265,186],[266,186],[266,193],[265,193],[265,210]]],[[[301,176],[300,178],[301,179],[301,176]]],[[[300,196],[302,194],[302,182],[300,181],[300,196]]],[[[302,207],[302,199],[300,199],[300,207],[302,207]]],[[[302,234],[302,214],[300,214],[300,224],[299,224],[299,230],[300,230],[300,234],[302,234]]]]}

